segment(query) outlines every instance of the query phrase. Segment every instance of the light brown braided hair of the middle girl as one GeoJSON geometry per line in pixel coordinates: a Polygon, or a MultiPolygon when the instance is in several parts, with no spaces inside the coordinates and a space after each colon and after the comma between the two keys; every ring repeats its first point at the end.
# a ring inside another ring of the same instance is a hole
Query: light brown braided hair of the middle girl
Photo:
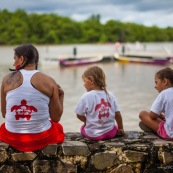
{"type": "Polygon", "coordinates": [[[100,67],[93,66],[88,68],[84,71],[82,77],[86,77],[88,79],[91,79],[93,77],[95,84],[99,86],[102,90],[104,90],[108,95],[108,92],[106,90],[106,76],[104,71],[100,67]]]}

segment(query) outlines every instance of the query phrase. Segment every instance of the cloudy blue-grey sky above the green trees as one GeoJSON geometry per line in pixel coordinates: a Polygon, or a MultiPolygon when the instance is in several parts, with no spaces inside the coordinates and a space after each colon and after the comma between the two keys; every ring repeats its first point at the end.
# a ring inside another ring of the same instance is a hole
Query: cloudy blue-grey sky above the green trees
{"type": "Polygon", "coordinates": [[[173,27],[173,0],[0,0],[0,10],[55,13],[84,21],[92,14],[108,20],[161,28],[173,27]]]}

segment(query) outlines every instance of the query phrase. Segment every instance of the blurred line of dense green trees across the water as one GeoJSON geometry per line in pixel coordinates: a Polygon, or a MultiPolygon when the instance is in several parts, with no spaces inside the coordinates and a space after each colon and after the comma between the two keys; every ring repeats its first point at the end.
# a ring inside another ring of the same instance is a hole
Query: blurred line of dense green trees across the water
{"type": "Polygon", "coordinates": [[[28,14],[22,9],[4,9],[0,11],[0,23],[1,45],[173,41],[173,27],[146,27],[117,20],[102,24],[98,14],[77,22],[54,13],[28,14]]]}

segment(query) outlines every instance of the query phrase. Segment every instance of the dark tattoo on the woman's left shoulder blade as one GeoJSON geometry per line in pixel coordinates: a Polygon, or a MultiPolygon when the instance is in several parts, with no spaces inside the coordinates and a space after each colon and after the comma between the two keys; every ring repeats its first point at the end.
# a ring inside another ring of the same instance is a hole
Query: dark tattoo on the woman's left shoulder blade
{"type": "Polygon", "coordinates": [[[15,71],[8,76],[6,84],[14,86],[15,84],[21,84],[21,81],[22,81],[21,73],[19,71],[15,71]]]}

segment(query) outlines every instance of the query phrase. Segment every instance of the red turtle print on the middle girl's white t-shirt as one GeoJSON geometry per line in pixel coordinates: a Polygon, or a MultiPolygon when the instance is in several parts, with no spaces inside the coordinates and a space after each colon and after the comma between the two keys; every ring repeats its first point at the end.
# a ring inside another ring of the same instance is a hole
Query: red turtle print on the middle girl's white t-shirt
{"type": "Polygon", "coordinates": [[[110,107],[111,107],[111,104],[109,102],[105,102],[103,98],[101,99],[100,103],[96,105],[95,111],[99,109],[98,118],[101,124],[104,124],[103,120],[101,121],[103,117],[107,117],[107,118],[109,117],[110,107]]]}

